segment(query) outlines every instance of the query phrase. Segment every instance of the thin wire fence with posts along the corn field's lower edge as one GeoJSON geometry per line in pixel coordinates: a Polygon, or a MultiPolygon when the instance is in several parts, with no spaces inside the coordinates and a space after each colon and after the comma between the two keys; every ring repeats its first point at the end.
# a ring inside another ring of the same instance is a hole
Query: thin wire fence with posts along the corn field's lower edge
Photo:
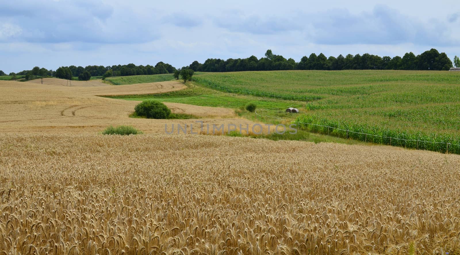
{"type": "MultiPolygon", "coordinates": [[[[301,105],[301,104],[299,104],[301,105]]],[[[276,107],[276,108],[270,108],[270,109],[263,109],[263,110],[259,110],[259,111],[268,111],[268,110],[274,110],[274,109],[282,109],[282,108],[289,108],[289,107],[292,107],[292,106],[297,106],[297,105],[288,105],[286,107],[276,107]]],[[[300,122],[300,121],[293,121],[293,120],[287,120],[287,119],[283,119],[283,118],[280,118],[280,117],[276,117],[276,116],[269,116],[269,115],[260,115],[258,112],[258,110],[256,110],[254,113],[256,114],[256,116],[260,116],[260,117],[267,117],[267,118],[272,118],[272,119],[277,119],[277,120],[281,120],[281,121],[286,121],[286,122],[292,122],[292,123],[301,123],[301,124],[305,124],[305,125],[312,125],[312,126],[316,126],[316,127],[327,127],[328,130],[329,129],[333,129],[333,130],[339,130],[339,131],[345,131],[347,133],[347,136],[348,136],[348,133],[356,133],[356,134],[361,134],[361,135],[366,135],[366,136],[372,136],[372,137],[380,137],[380,138],[385,138],[385,139],[390,139],[390,144],[391,145],[391,139],[395,139],[395,140],[400,140],[400,141],[408,141],[408,142],[417,142],[417,144],[419,142],[421,143],[432,143],[432,144],[445,144],[446,145],[446,151],[445,153],[449,153],[449,146],[450,145],[453,145],[453,146],[458,146],[460,147],[460,144],[453,144],[453,143],[446,143],[446,142],[432,142],[432,141],[426,141],[426,140],[414,140],[414,139],[401,139],[401,138],[395,138],[395,137],[388,137],[388,136],[382,136],[382,135],[376,135],[376,134],[369,134],[369,133],[361,133],[361,132],[355,132],[355,131],[351,131],[351,130],[348,130],[348,129],[342,129],[342,128],[338,128],[338,127],[330,127],[330,126],[324,126],[324,125],[319,125],[319,124],[314,124],[314,123],[306,123],[306,122],[300,122]]],[[[329,134],[328,134],[329,135],[329,134]]],[[[349,137],[347,137],[348,139],[349,137]]],[[[365,141],[367,142],[367,141],[365,141]]],[[[369,141],[370,142],[370,141],[369,141]]],[[[391,145],[391,146],[395,146],[395,145],[391,145]]],[[[396,146],[396,147],[401,147],[401,146],[396,146]]],[[[418,147],[418,146],[417,146],[418,147]]],[[[419,150],[417,148],[417,150],[419,150]]],[[[455,153],[455,154],[458,154],[458,153],[455,153]]]]}

